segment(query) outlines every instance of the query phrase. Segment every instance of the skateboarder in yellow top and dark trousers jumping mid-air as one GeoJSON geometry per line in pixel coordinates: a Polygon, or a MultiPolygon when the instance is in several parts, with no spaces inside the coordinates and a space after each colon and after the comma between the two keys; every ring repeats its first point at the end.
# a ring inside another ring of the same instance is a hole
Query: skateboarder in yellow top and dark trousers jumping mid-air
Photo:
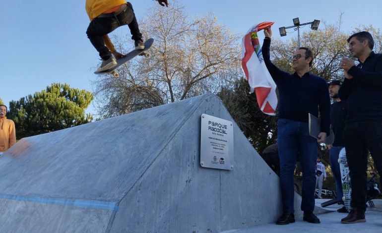
{"type": "MultiPolygon", "coordinates": [[[[168,6],[167,0],[157,1],[162,6],[168,6]]],[[[116,59],[124,57],[116,51],[108,36],[119,26],[128,25],[131,39],[135,41],[135,49],[144,49],[142,34],[139,32],[130,2],[125,0],[86,0],[85,8],[91,21],[86,30],[86,35],[102,58],[101,66],[97,69],[98,72],[117,64],[112,55],[116,59]]]]}

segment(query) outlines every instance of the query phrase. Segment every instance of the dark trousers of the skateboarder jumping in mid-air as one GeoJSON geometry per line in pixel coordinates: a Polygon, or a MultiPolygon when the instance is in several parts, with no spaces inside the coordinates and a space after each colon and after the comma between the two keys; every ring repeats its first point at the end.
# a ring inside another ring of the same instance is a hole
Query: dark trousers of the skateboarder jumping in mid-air
{"type": "Polygon", "coordinates": [[[127,7],[124,11],[118,15],[113,13],[111,13],[111,15],[111,17],[94,18],[86,30],[87,37],[103,60],[109,59],[110,56],[112,56],[112,53],[105,46],[102,36],[111,33],[119,26],[128,25],[132,35],[131,39],[138,40],[142,38],[142,34],[139,32],[138,23],[130,2],[127,2],[127,7]]]}

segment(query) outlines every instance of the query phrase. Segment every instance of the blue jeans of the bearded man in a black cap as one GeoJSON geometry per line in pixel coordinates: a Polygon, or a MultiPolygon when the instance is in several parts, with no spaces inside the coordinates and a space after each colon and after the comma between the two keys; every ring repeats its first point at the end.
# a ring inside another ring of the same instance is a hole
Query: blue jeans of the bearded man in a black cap
{"type": "Polygon", "coordinates": [[[337,200],[340,204],[344,204],[342,197],[342,179],[341,179],[341,171],[339,168],[339,163],[338,163],[338,156],[340,150],[344,148],[343,146],[333,146],[329,150],[329,159],[330,159],[330,168],[331,172],[333,174],[334,180],[335,180],[335,189],[337,191],[337,200]]]}

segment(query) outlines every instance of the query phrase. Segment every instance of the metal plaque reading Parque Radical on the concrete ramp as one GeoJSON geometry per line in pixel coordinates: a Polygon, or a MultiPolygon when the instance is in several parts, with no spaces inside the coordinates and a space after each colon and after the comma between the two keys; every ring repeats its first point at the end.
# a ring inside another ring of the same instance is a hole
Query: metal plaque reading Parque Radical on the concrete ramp
{"type": "Polygon", "coordinates": [[[232,121],[201,115],[200,165],[204,168],[234,169],[234,127],[232,121]]]}

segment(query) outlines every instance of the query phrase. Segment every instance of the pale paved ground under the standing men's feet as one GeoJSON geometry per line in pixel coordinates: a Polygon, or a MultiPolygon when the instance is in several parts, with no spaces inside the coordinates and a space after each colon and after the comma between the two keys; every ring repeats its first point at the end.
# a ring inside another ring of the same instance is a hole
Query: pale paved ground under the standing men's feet
{"type": "MultiPolygon", "coordinates": [[[[316,206],[321,207],[321,203],[328,199],[316,199],[316,206]]],[[[368,207],[366,210],[366,223],[341,224],[341,219],[346,217],[345,213],[338,213],[337,204],[327,206],[324,209],[327,213],[317,215],[320,224],[311,224],[296,219],[296,222],[289,225],[279,226],[276,224],[266,224],[258,227],[227,231],[224,233],[381,233],[382,232],[382,200],[374,200],[375,207],[368,207]]]]}

